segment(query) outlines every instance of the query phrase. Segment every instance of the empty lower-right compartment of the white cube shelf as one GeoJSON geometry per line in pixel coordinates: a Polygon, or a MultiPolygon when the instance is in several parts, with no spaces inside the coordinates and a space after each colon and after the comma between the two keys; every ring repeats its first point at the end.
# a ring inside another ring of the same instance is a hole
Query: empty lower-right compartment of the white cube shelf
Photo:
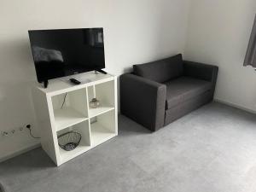
{"type": "Polygon", "coordinates": [[[90,119],[90,137],[92,146],[106,142],[117,135],[114,110],[90,119]]]}

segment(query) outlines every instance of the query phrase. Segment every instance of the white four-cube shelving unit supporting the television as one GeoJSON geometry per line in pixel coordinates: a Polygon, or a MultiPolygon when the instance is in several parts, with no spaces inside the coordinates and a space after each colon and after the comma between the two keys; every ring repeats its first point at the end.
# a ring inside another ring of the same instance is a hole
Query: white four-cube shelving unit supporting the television
{"type": "Polygon", "coordinates": [[[91,72],[84,77],[88,83],[72,85],[55,79],[49,88],[32,91],[41,144],[57,166],[118,135],[116,76],[91,72]],[[89,107],[94,97],[100,101],[98,108],[89,107]],[[82,139],[77,148],[65,151],[58,136],[72,130],[82,139]]]}

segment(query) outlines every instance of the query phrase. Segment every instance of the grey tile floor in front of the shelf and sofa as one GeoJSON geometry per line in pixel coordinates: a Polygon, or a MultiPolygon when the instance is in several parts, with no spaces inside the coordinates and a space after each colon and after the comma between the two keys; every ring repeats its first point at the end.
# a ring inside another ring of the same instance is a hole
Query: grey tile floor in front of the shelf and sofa
{"type": "Polygon", "coordinates": [[[41,148],[0,164],[15,192],[255,192],[256,116],[213,102],[150,133],[119,116],[119,137],[60,167],[41,148]]]}

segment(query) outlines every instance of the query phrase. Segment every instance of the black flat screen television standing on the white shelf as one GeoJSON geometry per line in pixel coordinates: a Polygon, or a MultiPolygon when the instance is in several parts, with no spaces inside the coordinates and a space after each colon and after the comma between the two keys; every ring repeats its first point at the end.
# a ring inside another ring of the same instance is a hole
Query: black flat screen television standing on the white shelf
{"type": "Polygon", "coordinates": [[[105,68],[103,28],[28,31],[38,82],[105,68]]]}

